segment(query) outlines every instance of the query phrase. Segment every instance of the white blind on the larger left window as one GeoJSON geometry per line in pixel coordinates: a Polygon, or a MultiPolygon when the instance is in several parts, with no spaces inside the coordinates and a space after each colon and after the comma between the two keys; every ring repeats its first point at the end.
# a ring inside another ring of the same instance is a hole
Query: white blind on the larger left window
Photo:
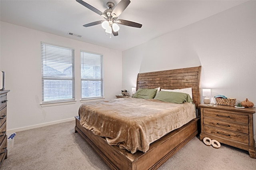
{"type": "Polygon", "coordinates": [[[75,100],[74,49],[41,43],[42,103],[75,100]]]}

